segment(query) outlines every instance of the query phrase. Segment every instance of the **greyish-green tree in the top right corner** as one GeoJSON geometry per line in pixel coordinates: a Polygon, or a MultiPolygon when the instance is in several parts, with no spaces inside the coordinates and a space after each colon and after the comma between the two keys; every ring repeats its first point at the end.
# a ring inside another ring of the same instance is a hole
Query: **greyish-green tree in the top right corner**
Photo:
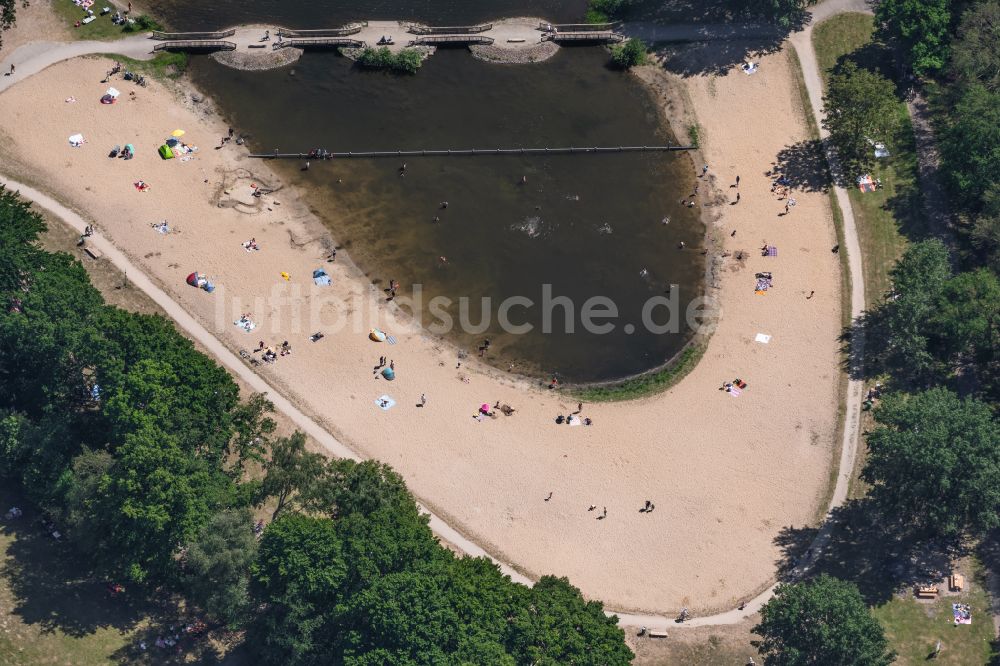
{"type": "Polygon", "coordinates": [[[1000,88],[1000,2],[985,0],[969,7],[951,47],[952,72],[978,81],[987,90],[1000,88]]]}

